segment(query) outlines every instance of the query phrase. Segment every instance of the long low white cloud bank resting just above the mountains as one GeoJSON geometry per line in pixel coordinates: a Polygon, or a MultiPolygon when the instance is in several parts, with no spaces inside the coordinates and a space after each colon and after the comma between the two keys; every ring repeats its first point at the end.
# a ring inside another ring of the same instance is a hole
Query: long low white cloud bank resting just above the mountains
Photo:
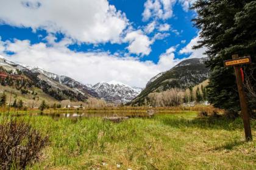
{"type": "Polygon", "coordinates": [[[120,57],[105,52],[73,52],[63,44],[65,43],[62,41],[53,42],[52,46],[46,46],[43,42],[30,44],[28,40],[18,39],[14,42],[0,41],[0,49],[15,53],[9,56],[2,50],[0,56],[66,75],[81,83],[96,84],[116,80],[137,87],[144,87],[150,78],[171,69],[180,61],[174,59],[175,47],[166,50],[158,63],[154,64],[152,61],[140,61],[138,58],[120,57]]]}

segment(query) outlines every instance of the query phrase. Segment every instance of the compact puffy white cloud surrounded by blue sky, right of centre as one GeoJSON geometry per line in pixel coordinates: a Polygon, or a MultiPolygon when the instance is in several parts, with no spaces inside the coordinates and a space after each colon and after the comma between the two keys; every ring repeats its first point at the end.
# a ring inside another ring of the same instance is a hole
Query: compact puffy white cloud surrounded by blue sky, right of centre
{"type": "Polygon", "coordinates": [[[136,30],[127,33],[124,41],[130,42],[127,47],[130,53],[136,53],[137,55],[149,55],[151,52],[151,41],[148,36],[144,35],[141,30],[136,30]]]}

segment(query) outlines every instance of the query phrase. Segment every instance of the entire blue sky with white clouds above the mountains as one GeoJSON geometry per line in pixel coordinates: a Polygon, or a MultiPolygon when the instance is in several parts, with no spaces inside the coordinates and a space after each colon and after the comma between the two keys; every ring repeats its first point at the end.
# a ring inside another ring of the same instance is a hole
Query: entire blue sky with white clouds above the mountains
{"type": "Polygon", "coordinates": [[[144,87],[186,58],[195,0],[0,0],[0,57],[81,83],[144,87]]]}

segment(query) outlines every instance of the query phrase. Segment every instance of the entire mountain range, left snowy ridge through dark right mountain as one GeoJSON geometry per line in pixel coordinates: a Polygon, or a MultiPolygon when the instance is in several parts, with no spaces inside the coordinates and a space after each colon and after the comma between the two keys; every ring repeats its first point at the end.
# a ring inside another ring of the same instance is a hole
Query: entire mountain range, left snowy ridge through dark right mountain
{"type": "Polygon", "coordinates": [[[144,89],[130,87],[117,81],[94,85],[79,83],[73,78],[57,75],[39,67],[16,64],[0,58],[0,66],[6,70],[22,72],[36,87],[57,100],[85,101],[89,97],[102,98],[112,103],[142,103],[151,92],[162,92],[171,88],[186,89],[208,78],[206,58],[183,60],[172,69],[158,73],[148,81],[144,89]]]}

